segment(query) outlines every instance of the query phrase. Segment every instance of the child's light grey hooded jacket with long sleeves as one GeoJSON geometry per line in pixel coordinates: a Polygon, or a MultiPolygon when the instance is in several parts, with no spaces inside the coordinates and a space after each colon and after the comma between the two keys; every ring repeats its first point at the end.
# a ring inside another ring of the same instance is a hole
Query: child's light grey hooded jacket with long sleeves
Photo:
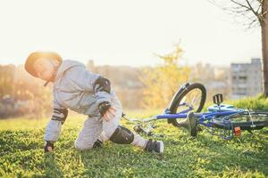
{"type": "MultiPolygon", "coordinates": [[[[113,89],[111,93],[94,92],[93,85],[98,77],[100,75],[88,71],[79,61],[63,61],[54,78],[54,109],[71,109],[89,117],[100,117],[97,106],[103,101],[114,101],[116,96],[113,89]]],[[[115,101],[121,105],[120,101],[115,101]]],[[[44,136],[46,142],[57,141],[62,124],[54,119],[48,122],[44,136]]]]}

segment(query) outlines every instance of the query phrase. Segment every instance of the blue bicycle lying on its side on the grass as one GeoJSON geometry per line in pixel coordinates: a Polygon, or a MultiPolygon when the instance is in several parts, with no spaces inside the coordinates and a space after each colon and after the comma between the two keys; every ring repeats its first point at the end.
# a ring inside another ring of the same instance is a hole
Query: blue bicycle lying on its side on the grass
{"type": "Polygon", "coordinates": [[[202,127],[205,127],[211,134],[225,140],[239,136],[243,130],[252,134],[253,130],[268,126],[268,111],[237,109],[232,105],[222,104],[222,94],[214,95],[214,105],[210,106],[207,112],[201,112],[205,105],[205,98],[204,85],[187,83],[174,94],[163,114],[144,119],[128,118],[124,114],[123,117],[136,124],[134,126],[136,133],[148,136],[163,136],[153,133],[156,127],[153,122],[159,119],[167,119],[169,124],[186,128],[194,137],[202,127]]]}

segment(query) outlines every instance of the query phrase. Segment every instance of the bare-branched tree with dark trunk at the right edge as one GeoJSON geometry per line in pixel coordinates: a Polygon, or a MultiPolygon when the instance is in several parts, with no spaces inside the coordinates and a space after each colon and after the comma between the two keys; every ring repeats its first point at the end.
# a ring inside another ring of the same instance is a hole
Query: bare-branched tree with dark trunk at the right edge
{"type": "Polygon", "coordinates": [[[260,26],[262,31],[262,53],[264,72],[264,96],[268,97],[268,0],[209,0],[239,17],[247,28],[260,26]]]}

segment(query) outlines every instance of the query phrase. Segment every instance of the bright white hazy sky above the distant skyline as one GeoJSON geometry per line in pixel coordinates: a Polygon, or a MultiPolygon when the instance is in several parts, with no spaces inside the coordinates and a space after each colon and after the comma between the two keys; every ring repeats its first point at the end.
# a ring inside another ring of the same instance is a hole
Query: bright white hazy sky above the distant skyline
{"type": "Polygon", "coordinates": [[[97,65],[154,65],[180,41],[188,63],[261,57],[260,28],[245,30],[207,0],[0,0],[0,64],[55,51],[97,65]]]}

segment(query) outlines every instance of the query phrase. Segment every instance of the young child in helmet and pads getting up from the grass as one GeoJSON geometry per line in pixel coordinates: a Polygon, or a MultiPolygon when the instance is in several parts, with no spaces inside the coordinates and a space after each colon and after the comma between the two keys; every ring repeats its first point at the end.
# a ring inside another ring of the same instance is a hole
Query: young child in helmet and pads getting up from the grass
{"type": "Polygon", "coordinates": [[[120,125],[122,107],[108,78],[88,71],[79,61],[62,60],[57,53],[30,53],[25,62],[30,75],[54,83],[54,111],[46,125],[45,151],[54,150],[68,109],[87,115],[74,142],[77,150],[89,150],[105,141],[132,144],[163,153],[163,142],[146,140],[120,125]]]}

